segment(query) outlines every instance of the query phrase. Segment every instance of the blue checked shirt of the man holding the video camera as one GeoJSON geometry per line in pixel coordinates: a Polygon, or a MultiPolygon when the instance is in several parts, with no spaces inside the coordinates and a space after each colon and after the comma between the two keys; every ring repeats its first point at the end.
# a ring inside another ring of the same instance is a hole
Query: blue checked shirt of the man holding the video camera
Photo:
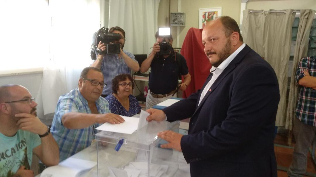
{"type": "MultiPolygon", "coordinates": [[[[123,52],[130,57],[132,60],[135,60],[135,56],[128,51],[123,50],[123,52]]],[[[138,62],[137,62],[138,63],[138,62]]],[[[112,94],[112,79],[119,74],[131,74],[131,68],[127,66],[123,58],[119,58],[118,54],[113,55],[104,55],[103,62],[101,65],[101,71],[104,77],[104,83],[106,87],[103,88],[103,95],[112,94]]]]}

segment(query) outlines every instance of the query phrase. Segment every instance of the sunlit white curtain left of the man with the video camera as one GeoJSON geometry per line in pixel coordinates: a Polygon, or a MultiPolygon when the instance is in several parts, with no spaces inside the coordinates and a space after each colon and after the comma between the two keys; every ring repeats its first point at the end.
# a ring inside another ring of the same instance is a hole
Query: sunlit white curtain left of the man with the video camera
{"type": "Polygon", "coordinates": [[[76,88],[82,69],[92,63],[90,46],[100,29],[100,0],[50,0],[49,10],[51,35],[43,37],[51,41],[42,80],[44,115],[55,112],[59,96],[76,88]]]}

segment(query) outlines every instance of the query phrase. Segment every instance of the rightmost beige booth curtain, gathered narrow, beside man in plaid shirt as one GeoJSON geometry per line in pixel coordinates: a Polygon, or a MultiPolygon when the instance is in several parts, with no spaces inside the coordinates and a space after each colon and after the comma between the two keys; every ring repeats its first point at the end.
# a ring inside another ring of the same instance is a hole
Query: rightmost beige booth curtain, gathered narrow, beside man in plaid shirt
{"type": "Polygon", "coordinates": [[[313,16],[315,15],[315,10],[303,9],[300,12],[300,24],[298,27],[295,52],[293,59],[293,67],[291,73],[291,83],[289,91],[289,103],[286,113],[285,128],[292,130],[293,128],[293,118],[295,118],[295,109],[297,103],[297,97],[299,92],[299,87],[295,81],[296,69],[300,60],[307,55],[308,49],[308,38],[310,29],[313,22],[313,16]]]}

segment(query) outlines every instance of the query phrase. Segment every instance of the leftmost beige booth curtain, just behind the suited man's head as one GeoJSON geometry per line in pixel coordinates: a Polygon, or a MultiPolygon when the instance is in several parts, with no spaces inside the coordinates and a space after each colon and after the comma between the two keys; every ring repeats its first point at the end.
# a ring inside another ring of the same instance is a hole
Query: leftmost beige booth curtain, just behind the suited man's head
{"type": "Polygon", "coordinates": [[[262,13],[248,13],[251,9],[246,9],[243,11],[242,19],[242,37],[244,43],[249,45],[252,50],[256,51],[260,56],[264,57],[264,10],[262,13]]]}

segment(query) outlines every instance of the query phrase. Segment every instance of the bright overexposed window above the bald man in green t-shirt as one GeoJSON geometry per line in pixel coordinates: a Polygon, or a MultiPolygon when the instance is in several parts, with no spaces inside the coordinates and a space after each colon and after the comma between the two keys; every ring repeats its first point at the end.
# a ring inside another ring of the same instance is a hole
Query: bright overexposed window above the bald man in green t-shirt
{"type": "Polygon", "coordinates": [[[0,0],[0,70],[40,68],[49,59],[46,0],[0,0]]]}

